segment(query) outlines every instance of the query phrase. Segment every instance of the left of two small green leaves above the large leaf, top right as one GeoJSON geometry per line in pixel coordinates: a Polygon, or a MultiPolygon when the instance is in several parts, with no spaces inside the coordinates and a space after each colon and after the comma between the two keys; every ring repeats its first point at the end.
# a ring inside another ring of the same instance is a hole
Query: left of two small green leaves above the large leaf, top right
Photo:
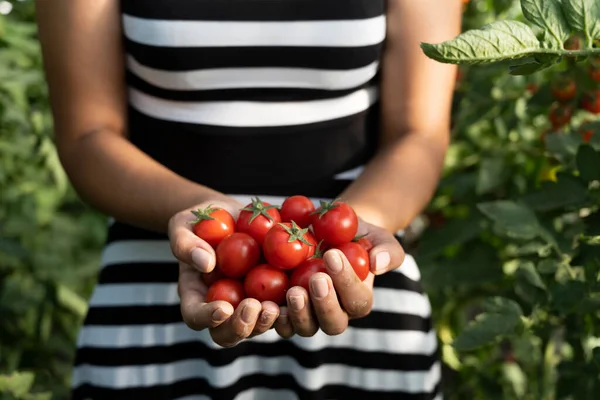
{"type": "Polygon", "coordinates": [[[571,27],[559,0],[521,0],[523,15],[544,30],[544,42],[552,48],[563,48],[571,27]]]}

